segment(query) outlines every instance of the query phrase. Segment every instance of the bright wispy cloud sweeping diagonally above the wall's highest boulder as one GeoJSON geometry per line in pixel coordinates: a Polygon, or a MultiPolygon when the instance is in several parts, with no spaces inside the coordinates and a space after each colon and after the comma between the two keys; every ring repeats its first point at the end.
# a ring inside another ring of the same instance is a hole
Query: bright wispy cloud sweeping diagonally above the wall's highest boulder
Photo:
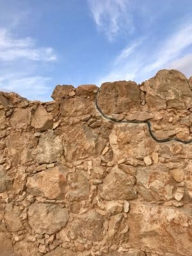
{"type": "Polygon", "coordinates": [[[147,46],[146,39],[127,45],[113,60],[108,74],[100,77],[97,84],[124,79],[140,83],[161,68],[178,68],[187,76],[192,75],[191,22],[182,24],[172,35],[150,47],[147,46]]]}

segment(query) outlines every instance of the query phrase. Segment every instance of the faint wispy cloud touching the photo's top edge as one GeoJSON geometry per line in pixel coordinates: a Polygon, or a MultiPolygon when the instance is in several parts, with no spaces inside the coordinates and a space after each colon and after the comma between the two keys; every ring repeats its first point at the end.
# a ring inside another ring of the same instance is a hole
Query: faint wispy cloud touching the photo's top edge
{"type": "Polygon", "coordinates": [[[121,28],[132,33],[134,26],[128,13],[129,0],[88,0],[93,20],[109,40],[113,40],[121,28]]]}

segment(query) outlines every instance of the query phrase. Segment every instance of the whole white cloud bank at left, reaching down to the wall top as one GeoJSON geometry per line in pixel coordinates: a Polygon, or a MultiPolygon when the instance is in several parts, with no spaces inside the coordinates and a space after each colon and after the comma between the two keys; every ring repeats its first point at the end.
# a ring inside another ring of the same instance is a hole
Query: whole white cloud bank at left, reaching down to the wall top
{"type": "Polygon", "coordinates": [[[38,47],[33,38],[18,38],[0,28],[0,90],[28,99],[47,100],[51,77],[42,76],[42,61],[56,61],[52,47],[38,47]]]}

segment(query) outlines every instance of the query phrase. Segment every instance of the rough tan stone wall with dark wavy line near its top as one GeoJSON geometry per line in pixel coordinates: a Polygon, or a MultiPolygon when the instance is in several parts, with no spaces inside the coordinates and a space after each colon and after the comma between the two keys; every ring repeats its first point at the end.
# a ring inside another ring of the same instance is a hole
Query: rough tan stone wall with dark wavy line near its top
{"type": "Polygon", "coordinates": [[[192,77],[0,93],[1,256],[191,256],[192,77]]]}

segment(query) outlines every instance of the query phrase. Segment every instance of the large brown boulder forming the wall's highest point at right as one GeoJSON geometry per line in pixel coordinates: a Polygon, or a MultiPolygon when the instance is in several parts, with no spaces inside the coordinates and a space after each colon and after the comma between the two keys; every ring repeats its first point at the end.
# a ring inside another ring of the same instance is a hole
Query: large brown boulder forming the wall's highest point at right
{"type": "Polygon", "coordinates": [[[143,84],[143,88],[151,108],[191,108],[192,92],[188,79],[177,70],[160,70],[143,84]]]}

